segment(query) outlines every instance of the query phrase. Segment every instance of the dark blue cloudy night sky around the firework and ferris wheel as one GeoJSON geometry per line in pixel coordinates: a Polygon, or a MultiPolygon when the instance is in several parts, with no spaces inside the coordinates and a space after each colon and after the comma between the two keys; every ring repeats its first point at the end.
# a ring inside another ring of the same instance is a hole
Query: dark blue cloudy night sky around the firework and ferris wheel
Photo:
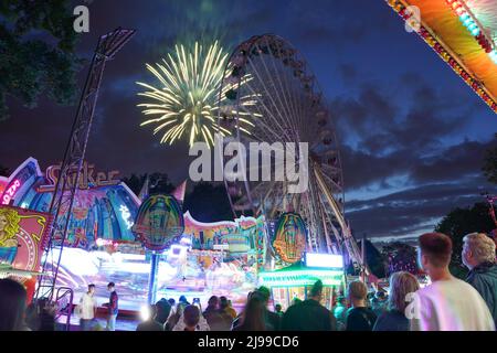
{"type": "MultiPolygon", "coordinates": [[[[91,32],[77,46],[91,58],[97,38],[117,26],[136,36],[108,63],[86,159],[121,174],[166,172],[188,178],[187,142],[160,146],[139,128],[136,81],[177,42],[221,39],[233,47],[275,33],[307,60],[330,104],[341,142],[346,208],[355,233],[412,236],[432,229],[454,206],[491,191],[480,168],[495,143],[495,114],[382,0],[96,0],[91,32]]],[[[81,79],[86,75],[86,66],[81,79]]],[[[42,170],[64,152],[75,107],[42,98],[34,109],[8,100],[0,122],[0,162],[28,157],[42,170]]],[[[495,186],[494,186],[495,188],[495,186]]]]}

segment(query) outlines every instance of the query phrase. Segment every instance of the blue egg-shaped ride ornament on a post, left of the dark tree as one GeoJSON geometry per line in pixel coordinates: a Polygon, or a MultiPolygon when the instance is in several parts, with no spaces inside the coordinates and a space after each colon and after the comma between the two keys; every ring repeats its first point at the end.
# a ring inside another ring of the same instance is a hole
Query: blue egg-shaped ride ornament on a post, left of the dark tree
{"type": "Polygon", "coordinates": [[[148,196],[138,210],[131,231],[146,248],[165,250],[178,242],[184,231],[180,204],[171,195],[148,196]]]}

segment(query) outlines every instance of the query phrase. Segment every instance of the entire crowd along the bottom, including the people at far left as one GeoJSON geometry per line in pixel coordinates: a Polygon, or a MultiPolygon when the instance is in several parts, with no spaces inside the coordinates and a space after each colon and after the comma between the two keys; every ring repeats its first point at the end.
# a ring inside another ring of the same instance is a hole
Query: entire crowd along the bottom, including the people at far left
{"type": "MultiPolygon", "coordinates": [[[[452,240],[441,233],[419,238],[419,265],[431,284],[421,288],[409,272],[390,276],[389,292],[368,292],[360,280],[351,281],[345,295],[328,310],[324,286],[317,280],[306,300],[294,298],[284,308],[269,310],[271,291],[250,292],[236,312],[226,297],[212,296],[202,310],[200,299],[160,299],[149,307],[137,331],[495,331],[497,325],[496,244],[485,234],[464,238],[462,259],[469,269],[466,281],[448,268],[452,240]]],[[[115,330],[118,296],[108,284],[107,330],[115,330]]],[[[92,330],[96,314],[95,286],[89,285],[78,306],[82,330],[92,330]]],[[[0,331],[53,330],[54,308],[38,301],[25,308],[27,292],[19,282],[0,280],[0,331]],[[52,318],[52,319],[51,319],[52,318]]]]}

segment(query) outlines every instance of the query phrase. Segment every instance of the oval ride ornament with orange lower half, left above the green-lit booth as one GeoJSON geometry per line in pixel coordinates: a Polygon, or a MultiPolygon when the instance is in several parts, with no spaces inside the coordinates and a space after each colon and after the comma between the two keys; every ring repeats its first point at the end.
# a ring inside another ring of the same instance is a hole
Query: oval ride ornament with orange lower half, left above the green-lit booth
{"type": "Polygon", "coordinates": [[[273,247],[285,263],[295,264],[306,250],[306,224],[300,215],[284,213],[276,225],[273,247]]]}

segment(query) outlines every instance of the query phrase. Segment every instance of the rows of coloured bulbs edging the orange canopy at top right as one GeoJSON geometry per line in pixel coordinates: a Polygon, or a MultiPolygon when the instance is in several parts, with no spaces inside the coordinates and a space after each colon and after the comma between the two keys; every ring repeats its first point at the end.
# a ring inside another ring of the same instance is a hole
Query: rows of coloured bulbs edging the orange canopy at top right
{"type": "MultiPolygon", "coordinates": [[[[468,11],[463,12],[463,10],[465,10],[465,8],[462,6],[461,1],[458,1],[458,0],[453,0],[453,1],[446,0],[446,1],[454,11],[461,12],[461,20],[463,23],[467,19],[472,19],[473,22],[470,22],[470,21],[466,22],[467,28],[472,28],[475,31],[475,33],[476,33],[476,29],[479,30],[478,24],[475,20],[473,20],[472,14],[468,11]],[[457,10],[459,8],[462,8],[463,10],[457,10]],[[475,23],[476,26],[472,25],[472,23],[475,23]]],[[[408,21],[411,18],[412,13],[410,11],[408,11],[408,8],[400,0],[387,0],[387,2],[405,21],[408,21]]],[[[480,82],[473,78],[473,75],[469,74],[465,68],[463,68],[463,66],[461,66],[457,58],[452,56],[452,54],[447,52],[447,50],[444,47],[444,45],[434,35],[432,35],[432,33],[425,26],[420,25],[417,34],[421,38],[423,38],[423,40],[452,67],[452,69],[454,72],[457,73],[457,75],[459,75],[464,79],[464,82],[466,82],[466,84],[469,87],[472,87],[472,89],[491,108],[491,110],[494,110],[494,113],[497,113],[497,103],[493,99],[493,97],[490,97],[487,94],[487,92],[484,89],[484,86],[480,84],[480,82]]],[[[483,32],[482,33],[478,32],[478,35],[480,35],[479,36],[480,39],[485,39],[483,32]]],[[[478,35],[476,35],[476,36],[478,36],[478,35]]],[[[490,45],[490,44],[488,44],[488,45],[490,45]]],[[[491,50],[489,52],[489,56],[495,63],[497,63],[496,50],[491,50]]]]}

